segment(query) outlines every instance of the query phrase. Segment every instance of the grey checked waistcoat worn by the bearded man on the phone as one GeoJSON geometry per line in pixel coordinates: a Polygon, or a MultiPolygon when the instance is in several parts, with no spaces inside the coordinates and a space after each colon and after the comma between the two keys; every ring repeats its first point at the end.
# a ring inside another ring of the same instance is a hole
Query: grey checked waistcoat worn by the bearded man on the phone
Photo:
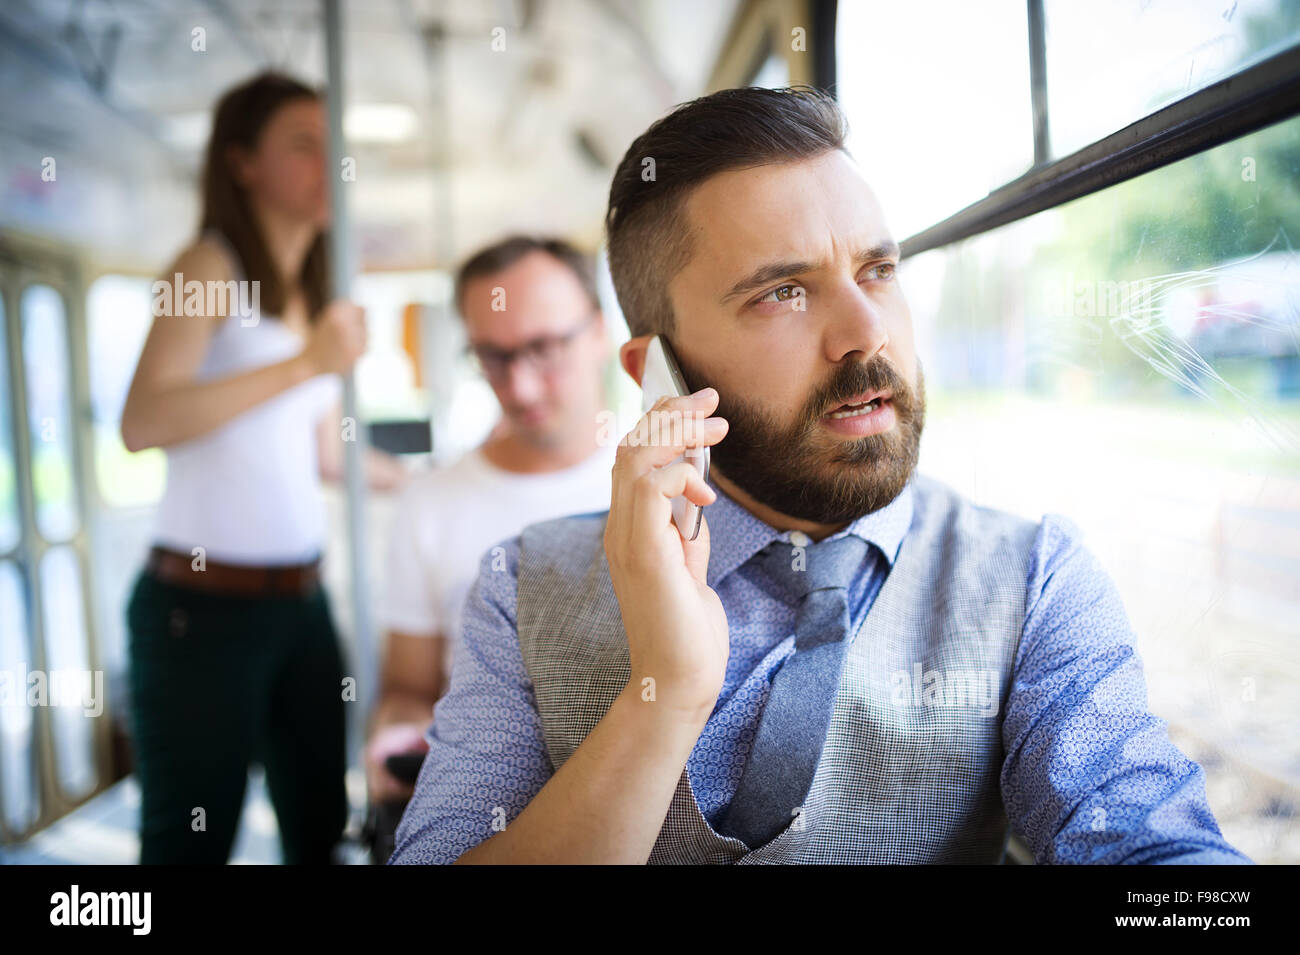
{"type": "MultiPolygon", "coordinates": [[[[1002,712],[1037,524],[919,473],[913,490],[911,528],[845,654],[802,812],[746,846],[710,826],[682,769],[649,861],[1001,861],[1002,712]]],[[[606,516],[533,524],[520,542],[519,644],[556,769],[630,674],[606,516]]]]}

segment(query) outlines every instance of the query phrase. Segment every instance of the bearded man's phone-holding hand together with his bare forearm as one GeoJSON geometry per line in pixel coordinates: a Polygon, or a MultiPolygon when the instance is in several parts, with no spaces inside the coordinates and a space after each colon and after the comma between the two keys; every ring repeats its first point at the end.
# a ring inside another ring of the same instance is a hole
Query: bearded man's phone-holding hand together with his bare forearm
{"type": "Polygon", "coordinates": [[[641,418],[636,439],[620,444],[604,555],[632,676],[524,811],[458,863],[640,865],[650,858],[727,673],[727,613],[706,577],[708,524],[694,541],[682,541],[672,522],[673,498],[685,494],[705,505],[714,491],[694,465],[664,466],[686,447],[722,440],[727,422],[705,421],[716,407],[712,388],[664,399],[641,418]],[[690,427],[677,434],[668,427],[664,440],[664,429],[650,426],[655,412],[676,412],[690,427]]]}

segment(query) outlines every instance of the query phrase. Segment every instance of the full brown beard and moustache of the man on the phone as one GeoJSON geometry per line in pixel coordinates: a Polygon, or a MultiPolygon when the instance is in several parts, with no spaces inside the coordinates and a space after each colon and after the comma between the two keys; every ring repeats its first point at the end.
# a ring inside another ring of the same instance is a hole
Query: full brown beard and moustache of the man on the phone
{"type": "MultiPolygon", "coordinates": [[[[708,377],[680,360],[692,391],[708,377]]],[[[710,451],[711,463],[760,504],[816,524],[846,524],[879,511],[907,485],[920,455],[926,426],[926,378],[916,360],[916,390],[880,355],[836,369],[793,424],[781,426],[770,413],[718,388],[716,414],[727,418],[727,437],[710,451]],[[880,434],[836,438],[820,434],[820,418],[864,391],[888,390],[894,425],[880,434]]]]}

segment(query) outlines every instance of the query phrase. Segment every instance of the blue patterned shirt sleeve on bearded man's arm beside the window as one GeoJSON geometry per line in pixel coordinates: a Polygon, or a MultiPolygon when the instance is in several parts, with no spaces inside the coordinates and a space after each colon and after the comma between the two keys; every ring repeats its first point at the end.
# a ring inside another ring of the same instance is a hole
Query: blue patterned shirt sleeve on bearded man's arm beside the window
{"type": "Polygon", "coordinates": [[[1119,592],[1080,529],[1048,515],[1034,544],[1002,743],[1002,802],[1039,864],[1249,864],[1201,768],[1147,708],[1119,592]]]}

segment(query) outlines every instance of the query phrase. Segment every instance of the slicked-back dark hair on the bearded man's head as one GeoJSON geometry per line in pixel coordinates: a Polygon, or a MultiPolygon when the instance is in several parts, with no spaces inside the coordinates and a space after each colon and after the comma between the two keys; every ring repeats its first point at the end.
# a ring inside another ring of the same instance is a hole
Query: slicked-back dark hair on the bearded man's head
{"type": "Polygon", "coordinates": [[[604,217],[610,273],[633,335],[673,329],[668,282],[690,260],[684,204],[718,173],[844,149],[848,122],[811,87],[722,90],[684,103],[628,147],[604,217]]]}

